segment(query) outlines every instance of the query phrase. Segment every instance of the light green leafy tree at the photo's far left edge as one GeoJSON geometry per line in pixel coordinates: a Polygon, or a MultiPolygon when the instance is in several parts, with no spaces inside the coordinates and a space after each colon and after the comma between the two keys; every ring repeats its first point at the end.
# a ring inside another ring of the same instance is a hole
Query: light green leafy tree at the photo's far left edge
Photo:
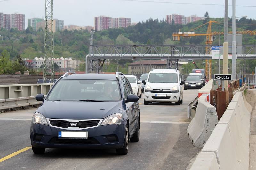
{"type": "Polygon", "coordinates": [[[0,55],[0,73],[11,74],[12,72],[10,53],[7,50],[4,50],[0,55]]]}

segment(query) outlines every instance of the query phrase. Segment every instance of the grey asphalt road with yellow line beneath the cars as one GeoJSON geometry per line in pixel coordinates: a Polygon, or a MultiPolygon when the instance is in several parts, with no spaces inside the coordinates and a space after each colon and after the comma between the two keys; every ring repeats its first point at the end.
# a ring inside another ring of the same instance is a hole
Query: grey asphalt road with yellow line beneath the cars
{"type": "Polygon", "coordinates": [[[184,170],[200,151],[188,138],[187,105],[197,90],[184,90],[183,104],[140,106],[140,141],[129,143],[127,155],[116,150],[46,149],[35,155],[29,128],[36,108],[0,114],[0,169],[175,169],[184,170]]]}

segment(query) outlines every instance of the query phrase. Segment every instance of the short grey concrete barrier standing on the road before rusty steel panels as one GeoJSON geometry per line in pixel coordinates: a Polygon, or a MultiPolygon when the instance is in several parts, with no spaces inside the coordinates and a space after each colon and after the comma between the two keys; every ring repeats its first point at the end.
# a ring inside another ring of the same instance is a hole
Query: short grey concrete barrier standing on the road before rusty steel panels
{"type": "Polygon", "coordinates": [[[191,120],[187,133],[195,147],[204,147],[218,123],[216,108],[207,102],[207,94],[198,99],[196,115],[191,120]]]}

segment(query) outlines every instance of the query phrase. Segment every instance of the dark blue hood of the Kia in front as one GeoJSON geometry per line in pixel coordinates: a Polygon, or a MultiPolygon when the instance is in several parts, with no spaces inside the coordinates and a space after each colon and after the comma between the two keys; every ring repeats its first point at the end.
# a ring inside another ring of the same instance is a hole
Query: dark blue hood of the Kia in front
{"type": "Polygon", "coordinates": [[[52,119],[103,119],[123,108],[117,102],[52,102],[44,100],[37,112],[52,119]]]}

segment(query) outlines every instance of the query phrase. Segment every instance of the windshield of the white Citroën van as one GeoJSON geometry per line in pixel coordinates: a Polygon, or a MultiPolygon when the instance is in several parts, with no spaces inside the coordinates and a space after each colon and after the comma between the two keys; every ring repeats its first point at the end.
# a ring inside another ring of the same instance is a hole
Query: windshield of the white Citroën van
{"type": "Polygon", "coordinates": [[[150,73],[148,82],[151,82],[151,83],[177,83],[178,76],[175,73],[150,73]]]}

